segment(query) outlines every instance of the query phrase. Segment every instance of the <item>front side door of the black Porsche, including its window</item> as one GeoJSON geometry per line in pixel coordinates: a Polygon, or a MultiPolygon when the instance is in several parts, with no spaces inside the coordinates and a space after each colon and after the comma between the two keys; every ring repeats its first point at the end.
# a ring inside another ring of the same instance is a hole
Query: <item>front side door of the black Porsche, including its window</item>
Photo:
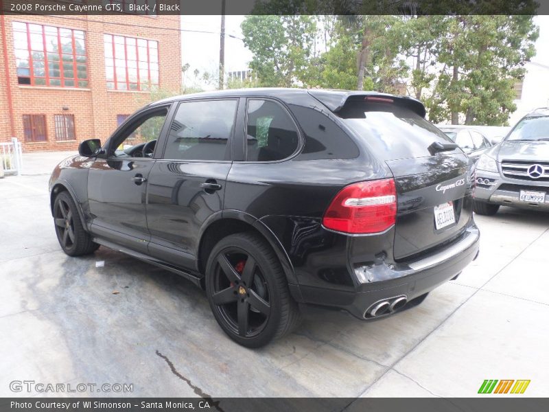
{"type": "Polygon", "coordinates": [[[130,117],[108,140],[88,175],[89,210],[95,236],[141,253],[148,251],[145,201],[156,141],[170,106],[130,117]]]}

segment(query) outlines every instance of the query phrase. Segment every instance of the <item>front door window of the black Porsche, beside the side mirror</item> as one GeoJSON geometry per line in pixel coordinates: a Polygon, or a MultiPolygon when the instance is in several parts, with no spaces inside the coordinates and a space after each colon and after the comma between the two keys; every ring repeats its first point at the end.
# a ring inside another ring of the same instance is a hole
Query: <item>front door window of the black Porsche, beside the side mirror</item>
{"type": "Polygon", "coordinates": [[[152,157],[166,115],[167,108],[164,107],[136,119],[117,136],[113,145],[115,149],[111,155],[116,157],[152,157]],[[146,153],[143,152],[145,144],[148,144],[146,153]]]}

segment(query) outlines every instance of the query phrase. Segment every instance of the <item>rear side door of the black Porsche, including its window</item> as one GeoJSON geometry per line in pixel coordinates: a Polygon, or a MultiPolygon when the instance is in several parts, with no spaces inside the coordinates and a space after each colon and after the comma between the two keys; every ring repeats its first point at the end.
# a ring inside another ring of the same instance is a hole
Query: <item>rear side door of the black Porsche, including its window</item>
{"type": "Polygon", "coordinates": [[[200,229],[223,209],[238,104],[237,98],[178,104],[148,181],[149,253],[155,258],[194,268],[200,229]]]}

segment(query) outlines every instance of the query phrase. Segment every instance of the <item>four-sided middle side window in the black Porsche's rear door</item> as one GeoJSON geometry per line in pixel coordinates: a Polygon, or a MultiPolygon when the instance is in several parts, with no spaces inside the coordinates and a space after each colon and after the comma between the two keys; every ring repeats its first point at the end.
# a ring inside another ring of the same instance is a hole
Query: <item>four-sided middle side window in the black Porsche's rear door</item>
{"type": "Polygon", "coordinates": [[[225,160],[237,100],[182,102],[170,127],[164,159],[225,160]]]}

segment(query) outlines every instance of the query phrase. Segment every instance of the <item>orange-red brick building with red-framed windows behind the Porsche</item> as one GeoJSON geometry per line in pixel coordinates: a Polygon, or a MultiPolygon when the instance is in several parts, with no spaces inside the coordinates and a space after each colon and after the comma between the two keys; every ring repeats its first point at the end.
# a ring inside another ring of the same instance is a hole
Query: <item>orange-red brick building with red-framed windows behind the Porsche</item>
{"type": "Polygon", "coordinates": [[[23,151],[105,141],[181,87],[180,16],[0,16],[0,141],[23,151]]]}

